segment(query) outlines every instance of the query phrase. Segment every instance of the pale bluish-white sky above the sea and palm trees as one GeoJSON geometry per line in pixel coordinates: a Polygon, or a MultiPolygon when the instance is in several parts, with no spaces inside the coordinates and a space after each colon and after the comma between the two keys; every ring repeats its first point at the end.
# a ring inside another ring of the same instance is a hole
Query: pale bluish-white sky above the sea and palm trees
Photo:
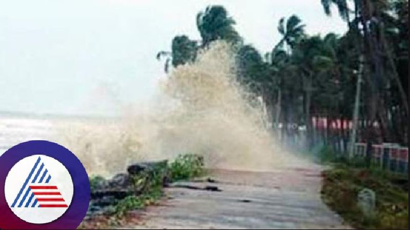
{"type": "Polygon", "coordinates": [[[320,0],[13,0],[0,2],[0,112],[117,115],[150,101],[166,77],[155,56],[175,35],[200,39],[196,14],[223,5],[262,54],[280,40],[281,17],[306,33],[343,34],[320,0]]]}

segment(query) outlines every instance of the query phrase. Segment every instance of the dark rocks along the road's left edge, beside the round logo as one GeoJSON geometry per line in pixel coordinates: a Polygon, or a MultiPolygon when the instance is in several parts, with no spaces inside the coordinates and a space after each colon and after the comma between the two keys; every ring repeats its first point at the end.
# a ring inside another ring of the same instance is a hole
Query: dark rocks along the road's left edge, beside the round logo
{"type": "Polygon", "coordinates": [[[91,178],[91,201],[87,215],[111,214],[115,212],[118,201],[139,195],[152,185],[167,185],[167,169],[167,160],[141,162],[130,165],[128,173],[116,174],[111,179],[100,176],[91,178]]]}

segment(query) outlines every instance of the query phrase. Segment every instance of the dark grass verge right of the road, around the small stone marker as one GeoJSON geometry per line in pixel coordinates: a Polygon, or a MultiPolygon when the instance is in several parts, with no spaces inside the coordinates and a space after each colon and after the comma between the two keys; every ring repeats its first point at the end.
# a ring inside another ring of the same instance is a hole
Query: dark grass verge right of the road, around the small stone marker
{"type": "Polygon", "coordinates": [[[363,159],[333,158],[327,150],[322,162],[333,168],[323,172],[322,199],[352,226],[359,229],[408,228],[408,176],[366,167],[363,159]],[[364,188],[376,193],[376,210],[366,217],[357,206],[364,188]]]}

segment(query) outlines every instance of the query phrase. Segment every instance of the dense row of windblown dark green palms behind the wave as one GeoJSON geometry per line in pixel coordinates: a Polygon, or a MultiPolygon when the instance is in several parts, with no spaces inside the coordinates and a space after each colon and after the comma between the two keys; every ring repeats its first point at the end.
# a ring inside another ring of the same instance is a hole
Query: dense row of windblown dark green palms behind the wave
{"type": "MultiPolygon", "coordinates": [[[[352,119],[360,75],[359,119],[378,120],[384,129],[383,137],[372,142],[407,145],[408,1],[347,4],[346,0],[321,0],[321,4],[327,15],[336,6],[347,23],[345,34],[309,36],[297,15],[282,17],[277,26],[281,39],[262,58],[254,47],[243,44],[234,28],[235,20],[223,6],[208,6],[196,17],[201,40],[176,36],[172,51],[160,52],[159,56],[168,56],[168,70],[171,61],[177,66],[195,60],[197,49],[211,41],[229,41],[238,54],[239,82],[262,96],[271,121],[283,127],[286,123],[305,124],[309,138],[313,114],[331,120],[352,119]]],[[[364,133],[360,130],[359,138],[369,139],[364,133]]]]}

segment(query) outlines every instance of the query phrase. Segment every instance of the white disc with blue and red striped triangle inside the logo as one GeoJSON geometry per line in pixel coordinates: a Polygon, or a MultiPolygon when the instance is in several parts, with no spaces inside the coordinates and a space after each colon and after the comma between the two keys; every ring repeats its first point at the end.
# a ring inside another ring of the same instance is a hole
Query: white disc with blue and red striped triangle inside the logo
{"type": "Polygon", "coordinates": [[[33,155],[11,168],[5,184],[11,211],[29,223],[49,223],[63,215],[73,198],[73,181],[54,158],[33,155]]]}

